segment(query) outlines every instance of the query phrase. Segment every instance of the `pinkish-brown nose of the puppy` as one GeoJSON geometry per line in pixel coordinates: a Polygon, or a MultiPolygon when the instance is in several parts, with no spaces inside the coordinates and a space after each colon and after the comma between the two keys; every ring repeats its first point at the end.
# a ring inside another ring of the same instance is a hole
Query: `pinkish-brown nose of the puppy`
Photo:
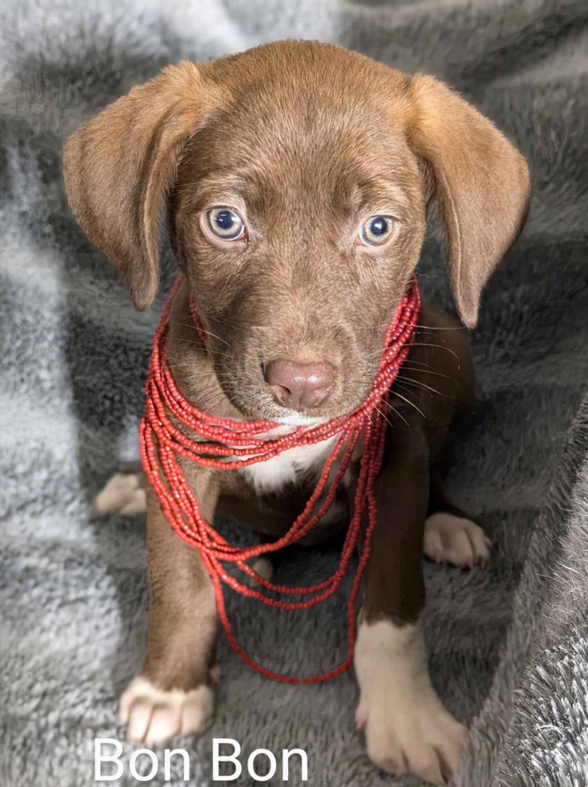
{"type": "Polygon", "coordinates": [[[326,400],[334,372],[333,364],[324,360],[303,364],[295,359],[277,358],[266,364],[264,374],[278,405],[311,410],[326,400]]]}

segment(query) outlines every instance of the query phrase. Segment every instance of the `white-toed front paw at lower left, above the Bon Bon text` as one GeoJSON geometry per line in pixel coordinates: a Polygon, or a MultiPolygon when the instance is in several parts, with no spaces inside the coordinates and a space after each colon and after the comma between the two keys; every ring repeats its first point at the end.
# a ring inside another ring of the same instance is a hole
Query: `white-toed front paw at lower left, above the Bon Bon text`
{"type": "Polygon", "coordinates": [[[213,692],[207,685],[189,692],[161,691],[139,675],[121,696],[119,716],[127,725],[128,741],[161,745],[174,735],[200,730],[213,707],[213,692]]]}

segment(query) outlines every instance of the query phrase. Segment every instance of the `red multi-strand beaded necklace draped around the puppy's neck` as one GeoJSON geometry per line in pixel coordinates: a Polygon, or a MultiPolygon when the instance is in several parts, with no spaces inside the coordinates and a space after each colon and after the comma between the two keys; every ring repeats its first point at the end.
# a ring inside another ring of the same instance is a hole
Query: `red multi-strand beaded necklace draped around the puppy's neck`
{"type": "MultiPolygon", "coordinates": [[[[359,586],[363,570],[370,559],[370,539],[376,525],[376,501],[374,499],[374,478],[378,475],[384,453],[384,439],[387,419],[385,409],[388,403],[389,387],[392,385],[401,364],[408,356],[411,342],[415,334],[416,320],[419,316],[421,296],[419,286],[413,279],[396,310],[392,323],[389,325],[384,337],[384,349],[378,375],[370,393],[355,412],[349,416],[334,418],[318,427],[297,427],[290,434],[281,437],[269,438],[267,433],[279,427],[273,421],[236,421],[218,418],[190,405],[184,399],[166,363],[166,333],[169,320],[169,310],[174,295],[180,286],[182,277],[177,279],[171,294],[166,302],[157,331],[155,331],[149,375],[145,391],[147,404],[145,414],[140,424],[140,449],[143,467],[153,486],[166,518],[173,530],[186,544],[195,547],[200,552],[214,587],[218,616],[225,629],[235,652],[249,667],[266,678],[284,683],[317,683],[334,678],[341,674],[353,663],[355,648],[355,599],[359,593],[359,586]],[[211,442],[193,441],[173,426],[169,414],[175,416],[180,423],[211,442]],[[180,468],[177,456],[195,461],[205,467],[216,467],[218,470],[236,470],[239,467],[249,467],[257,462],[265,462],[282,451],[287,451],[297,445],[314,445],[328,438],[339,435],[333,452],[326,460],[321,477],[314,493],[312,493],[306,508],[292,524],[288,533],[270,544],[261,544],[238,549],[225,541],[200,514],[198,500],[188,485],[184,473],[180,468]],[[330,508],[337,493],[337,487],[344,476],[352,454],[359,439],[363,435],[363,450],[359,460],[359,480],[355,493],[355,513],[349,523],[347,537],[345,538],[341,563],[337,571],[318,585],[310,587],[285,587],[274,585],[266,578],[257,574],[247,560],[263,555],[266,552],[275,552],[290,544],[300,541],[318,520],[330,508]],[[324,502],[318,511],[313,514],[314,505],[326,490],[329,482],[329,471],[341,455],[341,464],[337,468],[324,502]],[[160,471],[161,466],[161,471],[160,471]],[[262,667],[252,660],[238,645],[229,618],[225,610],[225,600],[222,585],[228,585],[242,593],[244,596],[262,601],[272,607],[280,609],[308,609],[321,601],[329,598],[341,585],[347,573],[349,561],[359,537],[363,513],[367,509],[368,524],[365,534],[365,544],[359,559],[359,567],[353,581],[352,593],[348,600],[349,619],[349,649],[347,659],[334,667],[329,672],[312,675],[307,678],[294,678],[290,675],[280,674],[262,667]],[[268,590],[283,594],[300,594],[311,596],[307,600],[287,603],[266,597],[259,590],[252,589],[236,578],[226,573],[223,563],[236,563],[236,566],[247,577],[254,578],[261,586],[268,590]]],[[[192,313],[197,320],[194,309],[192,313]]],[[[196,321],[197,327],[199,322],[196,321]]],[[[201,336],[206,338],[201,327],[201,336]]],[[[206,342],[204,342],[206,344],[206,342]]]]}

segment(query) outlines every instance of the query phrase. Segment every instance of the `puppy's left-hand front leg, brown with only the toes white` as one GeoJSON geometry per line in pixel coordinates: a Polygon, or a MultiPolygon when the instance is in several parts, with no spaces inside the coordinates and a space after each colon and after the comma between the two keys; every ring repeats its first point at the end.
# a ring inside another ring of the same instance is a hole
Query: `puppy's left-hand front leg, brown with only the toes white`
{"type": "MultiPolygon", "coordinates": [[[[217,487],[200,472],[194,489],[212,521],[217,487]]],[[[173,532],[153,490],[147,491],[149,641],[140,674],[121,697],[129,740],[162,744],[199,730],[212,715],[211,671],[217,612],[199,552],[173,532]]]]}

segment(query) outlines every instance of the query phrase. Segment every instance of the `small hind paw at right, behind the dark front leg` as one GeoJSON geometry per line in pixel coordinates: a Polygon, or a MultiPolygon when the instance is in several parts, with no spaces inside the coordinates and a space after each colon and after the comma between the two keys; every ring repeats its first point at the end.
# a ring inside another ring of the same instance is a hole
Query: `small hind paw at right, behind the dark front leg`
{"type": "Polygon", "coordinates": [[[472,568],[485,565],[492,541],[479,525],[461,516],[437,512],[426,520],[423,550],[435,563],[472,568]]]}

